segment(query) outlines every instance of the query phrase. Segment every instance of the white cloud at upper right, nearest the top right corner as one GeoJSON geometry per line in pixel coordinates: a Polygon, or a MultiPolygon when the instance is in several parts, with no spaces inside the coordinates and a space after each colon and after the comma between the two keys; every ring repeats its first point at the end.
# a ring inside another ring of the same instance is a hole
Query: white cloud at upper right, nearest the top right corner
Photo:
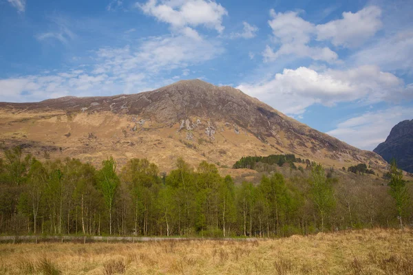
{"type": "Polygon", "coordinates": [[[335,46],[356,47],[381,29],[381,9],[372,5],[356,13],[343,12],[343,19],[317,25],[317,40],[331,40],[335,46]]]}

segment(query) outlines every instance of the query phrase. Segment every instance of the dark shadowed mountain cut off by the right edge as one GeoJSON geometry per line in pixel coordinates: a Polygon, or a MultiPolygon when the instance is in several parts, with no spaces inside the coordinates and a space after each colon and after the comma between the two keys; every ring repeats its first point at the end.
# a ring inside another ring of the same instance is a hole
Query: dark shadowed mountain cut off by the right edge
{"type": "Polygon", "coordinates": [[[385,142],[373,151],[387,162],[392,158],[396,159],[399,168],[413,173],[413,120],[404,120],[396,124],[385,142]]]}

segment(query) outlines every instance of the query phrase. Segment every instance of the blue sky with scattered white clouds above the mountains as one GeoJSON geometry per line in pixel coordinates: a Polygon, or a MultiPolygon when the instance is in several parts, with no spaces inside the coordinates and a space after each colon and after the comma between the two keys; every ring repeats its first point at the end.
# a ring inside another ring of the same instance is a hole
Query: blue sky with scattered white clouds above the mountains
{"type": "Polygon", "coordinates": [[[359,148],[413,119],[413,1],[0,0],[0,101],[231,85],[359,148]]]}

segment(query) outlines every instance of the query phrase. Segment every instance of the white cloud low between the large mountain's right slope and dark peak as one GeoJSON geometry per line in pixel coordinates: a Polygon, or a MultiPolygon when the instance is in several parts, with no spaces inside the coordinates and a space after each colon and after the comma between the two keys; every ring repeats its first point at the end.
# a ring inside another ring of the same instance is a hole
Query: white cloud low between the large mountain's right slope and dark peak
{"type": "Polygon", "coordinates": [[[379,111],[368,111],[337,125],[328,131],[340,140],[366,150],[373,150],[388,137],[392,127],[403,121],[412,119],[412,107],[390,107],[379,111]]]}

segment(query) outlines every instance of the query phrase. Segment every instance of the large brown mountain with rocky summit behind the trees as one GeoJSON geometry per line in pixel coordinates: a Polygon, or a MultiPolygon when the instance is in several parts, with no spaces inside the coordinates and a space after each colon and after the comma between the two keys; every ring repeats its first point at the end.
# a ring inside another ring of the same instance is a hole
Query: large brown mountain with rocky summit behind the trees
{"type": "Polygon", "coordinates": [[[246,155],[294,153],[336,168],[386,165],[376,153],[311,129],[238,89],[202,80],[139,94],[0,102],[0,130],[6,147],[93,164],[109,155],[120,165],[147,157],[170,170],[182,156],[193,165],[207,160],[231,167],[246,155]]]}

